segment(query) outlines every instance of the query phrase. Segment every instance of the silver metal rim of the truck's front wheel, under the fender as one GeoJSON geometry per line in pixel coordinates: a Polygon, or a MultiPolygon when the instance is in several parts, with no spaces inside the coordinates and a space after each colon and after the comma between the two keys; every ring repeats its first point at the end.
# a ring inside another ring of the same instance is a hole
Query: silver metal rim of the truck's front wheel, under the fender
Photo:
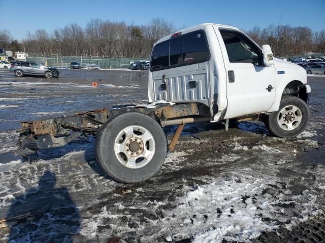
{"type": "Polygon", "coordinates": [[[278,125],[285,131],[292,131],[299,127],[302,118],[301,109],[295,105],[287,105],[278,113],[278,125]]]}

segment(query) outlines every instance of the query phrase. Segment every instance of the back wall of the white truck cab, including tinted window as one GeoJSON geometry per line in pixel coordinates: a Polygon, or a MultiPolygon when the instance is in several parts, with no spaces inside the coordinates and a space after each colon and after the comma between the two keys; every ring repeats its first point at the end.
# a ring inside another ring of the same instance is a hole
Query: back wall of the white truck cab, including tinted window
{"type": "MultiPolygon", "coordinates": [[[[197,30],[157,44],[151,56],[153,101],[208,104],[209,48],[205,32],[197,30]]],[[[149,87],[150,89],[150,87],[149,87]]]]}

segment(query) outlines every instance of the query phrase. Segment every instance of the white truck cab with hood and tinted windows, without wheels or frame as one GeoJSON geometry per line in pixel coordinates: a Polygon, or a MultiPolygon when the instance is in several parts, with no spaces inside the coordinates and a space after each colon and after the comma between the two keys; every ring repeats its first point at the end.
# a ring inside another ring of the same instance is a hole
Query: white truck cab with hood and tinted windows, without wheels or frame
{"type": "Polygon", "coordinates": [[[238,28],[201,24],[159,39],[149,68],[149,102],[199,102],[211,122],[279,110],[282,95],[308,100],[306,70],[273,58],[238,28]]]}

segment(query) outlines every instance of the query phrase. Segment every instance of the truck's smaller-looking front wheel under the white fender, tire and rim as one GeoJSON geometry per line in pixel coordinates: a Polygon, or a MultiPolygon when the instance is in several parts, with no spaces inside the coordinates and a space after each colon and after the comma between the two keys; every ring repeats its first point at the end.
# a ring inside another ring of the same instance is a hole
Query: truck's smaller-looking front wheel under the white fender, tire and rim
{"type": "Polygon", "coordinates": [[[295,96],[283,96],[279,110],[268,115],[266,126],[278,137],[291,138],[301,134],[309,120],[305,101],[295,96]]]}

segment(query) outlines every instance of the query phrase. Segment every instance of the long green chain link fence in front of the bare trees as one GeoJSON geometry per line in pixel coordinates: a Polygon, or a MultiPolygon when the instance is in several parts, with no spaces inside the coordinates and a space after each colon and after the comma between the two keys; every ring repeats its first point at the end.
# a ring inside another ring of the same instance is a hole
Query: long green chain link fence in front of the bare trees
{"type": "Polygon", "coordinates": [[[101,68],[129,68],[133,62],[147,60],[146,58],[105,58],[105,57],[74,57],[74,56],[39,56],[27,57],[28,61],[44,63],[50,67],[70,67],[71,62],[79,62],[81,67],[87,64],[97,64],[101,68]]]}

